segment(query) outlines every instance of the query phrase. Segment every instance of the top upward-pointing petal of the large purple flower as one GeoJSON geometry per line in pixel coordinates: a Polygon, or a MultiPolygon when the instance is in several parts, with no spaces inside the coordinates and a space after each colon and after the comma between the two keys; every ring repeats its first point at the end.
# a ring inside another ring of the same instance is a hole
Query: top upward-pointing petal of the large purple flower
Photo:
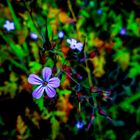
{"type": "Polygon", "coordinates": [[[52,69],[51,68],[48,68],[48,67],[45,67],[42,70],[43,80],[48,82],[49,79],[50,79],[50,77],[51,77],[51,74],[52,74],[52,69]]]}

